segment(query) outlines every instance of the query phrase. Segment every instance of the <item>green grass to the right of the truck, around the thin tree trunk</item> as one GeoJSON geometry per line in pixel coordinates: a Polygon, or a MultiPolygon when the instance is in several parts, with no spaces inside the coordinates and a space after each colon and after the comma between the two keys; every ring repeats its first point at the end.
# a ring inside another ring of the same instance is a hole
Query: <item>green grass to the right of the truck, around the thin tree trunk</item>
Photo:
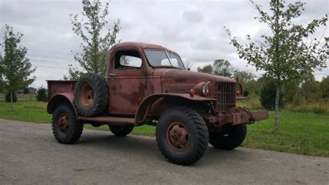
{"type": "Polygon", "coordinates": [[[275,134],[271,111],[269,120],[248,126],[242,146],[329,157],[329,113],[280,111],[279,132],[275,134]]]}

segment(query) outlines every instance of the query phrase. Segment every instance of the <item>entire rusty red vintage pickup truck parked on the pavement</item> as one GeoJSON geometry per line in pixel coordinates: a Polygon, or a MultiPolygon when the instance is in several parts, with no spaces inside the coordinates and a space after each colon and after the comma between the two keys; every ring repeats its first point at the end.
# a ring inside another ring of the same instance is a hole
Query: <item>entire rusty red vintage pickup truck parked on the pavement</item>
{"type": "Polygon", "coordinates": [[[47,112],[59,143],[75,143],[85,123],[108,124],[116,136],[149,124],[165,158],[190,165],[208,143],[232,150],[244,141],[246,124],[268,118],[267,111],[235,105],[243,99],[236,80],[186,70],[166,47],[119,43],[107,62],[106,79],[85,74],[78,81],[47,81],[47,112]]]}

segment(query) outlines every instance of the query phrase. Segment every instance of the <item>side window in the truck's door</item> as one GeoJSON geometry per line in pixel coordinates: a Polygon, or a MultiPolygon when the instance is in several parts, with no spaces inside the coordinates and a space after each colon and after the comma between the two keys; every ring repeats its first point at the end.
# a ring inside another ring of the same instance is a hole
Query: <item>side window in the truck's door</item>
{"type": "Polygon", "coordinates": [[[131,70],[142,67],[140,54],[134,50],[117,51],[115,54],[116,70],[131,70]]]}

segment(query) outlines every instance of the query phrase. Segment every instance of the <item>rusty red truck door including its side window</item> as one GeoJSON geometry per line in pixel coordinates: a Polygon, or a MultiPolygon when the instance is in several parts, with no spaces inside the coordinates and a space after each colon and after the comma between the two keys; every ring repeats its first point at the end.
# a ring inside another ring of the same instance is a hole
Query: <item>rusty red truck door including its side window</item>
{"type": "Polygon", "coordinates": [[[124,48],[114,51],[108,68],[111,114],[135,115],[146,95],[145,66],[140,51],[124,48]]]}

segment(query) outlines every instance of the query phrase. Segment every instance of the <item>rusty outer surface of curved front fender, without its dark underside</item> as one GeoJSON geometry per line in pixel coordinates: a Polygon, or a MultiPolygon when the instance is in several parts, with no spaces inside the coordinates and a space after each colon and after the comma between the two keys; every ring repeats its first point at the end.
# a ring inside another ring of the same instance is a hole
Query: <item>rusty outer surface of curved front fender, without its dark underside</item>
{"type": "Polygon", "coordinates": [[[180,99],[187,99],[193,102],[210,102],[216,100],[215,98],[202,97],[200,95],[194,95],[193,97],[191,97],[189,93],[158,93],[149,95],[148,97],[143,99],[142,103],[137,108],[137,111],[135,113],[135,124],[143,124],[142,122],[146,120],[146,115],[150,111],[153,103],[161,97],[176,97],[180,99]]]}

